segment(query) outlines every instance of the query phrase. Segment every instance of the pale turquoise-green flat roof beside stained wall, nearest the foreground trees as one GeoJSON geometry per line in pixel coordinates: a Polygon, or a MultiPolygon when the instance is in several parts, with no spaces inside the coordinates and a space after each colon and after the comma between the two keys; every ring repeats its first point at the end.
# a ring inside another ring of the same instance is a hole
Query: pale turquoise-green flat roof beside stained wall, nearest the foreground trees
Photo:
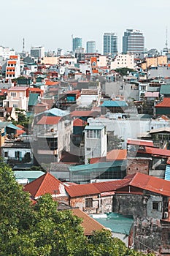
{"type": "Polygon", "coordinates": [[[131,227],[134,224],[132,217],[125,217],[122,214],[116,214],[114,212],[109,214],[94,214],[91,217],[96,219],[101,225],[109,228],[112,233],[121,233],[129,235],[131,227]]]}

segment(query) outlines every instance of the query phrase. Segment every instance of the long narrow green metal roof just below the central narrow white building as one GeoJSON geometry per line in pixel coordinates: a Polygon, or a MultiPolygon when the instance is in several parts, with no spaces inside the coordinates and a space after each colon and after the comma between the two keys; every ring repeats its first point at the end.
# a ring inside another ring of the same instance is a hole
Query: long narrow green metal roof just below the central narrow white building
{"type": "Polygon", "coordinates": [[[96,164],[88,164],[88,165],[76,165],[69,166],[70,172],[79,172],[81,173],[90,173],[94,170],[103,171],[104,169],[108,169],[109,167],[120,167],[122,165],[126,165],[125,160],[117,160],[113,162],[98,162],[96,164]]]}

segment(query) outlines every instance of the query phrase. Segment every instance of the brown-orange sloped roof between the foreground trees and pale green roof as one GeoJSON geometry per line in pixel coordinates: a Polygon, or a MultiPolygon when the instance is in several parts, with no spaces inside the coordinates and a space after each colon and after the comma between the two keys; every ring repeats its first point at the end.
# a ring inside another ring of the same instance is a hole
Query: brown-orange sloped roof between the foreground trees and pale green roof
{"type": "Polygon", "coordinates": [[[102,230],[105,229],[103,225],[98,223],[96,219],[91,218],[88,216],[88,214],[85,214],[84,211],[81,211],[78,208],[71,210],[73,215],[82,218],[81,226],[84,228],[84,234],[85,236],[90,236],[93,234],[93,231],[95,230],[102,230]]]}

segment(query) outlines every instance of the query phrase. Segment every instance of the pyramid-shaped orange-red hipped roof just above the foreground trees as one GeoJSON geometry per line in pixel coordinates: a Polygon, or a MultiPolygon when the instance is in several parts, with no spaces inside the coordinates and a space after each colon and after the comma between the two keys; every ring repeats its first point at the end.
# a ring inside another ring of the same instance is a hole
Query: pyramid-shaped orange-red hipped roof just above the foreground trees
{"type": "Polygon", "coordinates": [[[31,183],[26,184],[24,190],[29,192],[34,198],[40,197],[47,193],[51,195],[60,195],[60,187],[62,185],[63,184],[61,181],[58,181],[58,179],[53,175],[50,173],[45,173],[39,178],[36,178],[36,180],[32,181],[31,183]]]}

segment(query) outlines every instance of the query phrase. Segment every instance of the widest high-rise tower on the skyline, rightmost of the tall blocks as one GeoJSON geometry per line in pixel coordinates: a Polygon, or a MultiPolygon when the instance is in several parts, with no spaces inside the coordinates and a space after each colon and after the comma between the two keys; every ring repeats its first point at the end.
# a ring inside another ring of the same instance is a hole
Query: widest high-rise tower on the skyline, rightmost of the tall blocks
{"type": "Polygon", "coordinates": [[[134,53],[141,56],[144,53],[144,36],[142,31],[126,29],[123,35],[123,53],[134,53]]]}

